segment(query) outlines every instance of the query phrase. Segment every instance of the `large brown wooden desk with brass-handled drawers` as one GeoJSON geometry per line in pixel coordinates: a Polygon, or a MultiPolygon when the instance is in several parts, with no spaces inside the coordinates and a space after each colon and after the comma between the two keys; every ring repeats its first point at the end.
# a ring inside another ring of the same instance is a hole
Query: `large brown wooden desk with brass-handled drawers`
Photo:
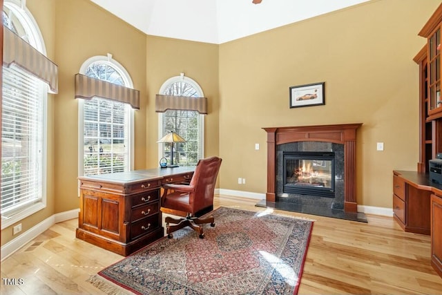
{"type": "Polygon", "coordinates": [[[195,167],[79,177],[77,238],[128,256],[164,236],[162,184],[189,182],[195,167]]]}

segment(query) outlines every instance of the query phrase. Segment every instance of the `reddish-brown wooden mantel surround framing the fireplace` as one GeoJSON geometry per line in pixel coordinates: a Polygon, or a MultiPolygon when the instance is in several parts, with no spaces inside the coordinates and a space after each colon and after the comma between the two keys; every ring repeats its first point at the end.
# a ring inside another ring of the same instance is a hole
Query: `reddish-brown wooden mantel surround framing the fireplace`
{"type": "Polygon", "coordinates": [[[344,211],[357,212],[356,129],[362,123],[263,128],[267,132],[268,202],[276,201],[276,146],[288,142],[334,142],[344,144],[344,211]]]}

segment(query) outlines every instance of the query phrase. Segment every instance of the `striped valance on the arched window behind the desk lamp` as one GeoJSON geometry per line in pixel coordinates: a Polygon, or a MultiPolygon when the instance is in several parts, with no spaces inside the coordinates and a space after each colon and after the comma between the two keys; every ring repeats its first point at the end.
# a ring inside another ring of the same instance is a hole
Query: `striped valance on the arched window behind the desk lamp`
{"type": "Polygon", "coordinates": [[[191,96],[160,95],[155,97],[155,111],[164,113],[167,110],[198,111],[207,114],[207,98],[191,96]]]}

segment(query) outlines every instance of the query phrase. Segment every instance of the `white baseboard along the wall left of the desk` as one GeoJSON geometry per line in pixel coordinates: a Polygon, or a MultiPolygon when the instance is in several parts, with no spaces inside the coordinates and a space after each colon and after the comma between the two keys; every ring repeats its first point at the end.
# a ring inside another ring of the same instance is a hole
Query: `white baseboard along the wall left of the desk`
{"type": "Polygon", "coordinates": [[[70,211],[54,214],[41,221],[34,227],[23,232],[23,234],[17,236],[17,238],[10,240],[10,242],[7,242],[5,245],[1,246],[1,261],[8,258],[15,251],[28,244],[28,242],[30,242],[31,240],[37,238],[39,234],[43,234],[44,231],[48,230],[50,227],[52,227],[52,225],[55,225],[55,223],[77,218],[78,212],[79,209],[73,209],[70,211]]]}

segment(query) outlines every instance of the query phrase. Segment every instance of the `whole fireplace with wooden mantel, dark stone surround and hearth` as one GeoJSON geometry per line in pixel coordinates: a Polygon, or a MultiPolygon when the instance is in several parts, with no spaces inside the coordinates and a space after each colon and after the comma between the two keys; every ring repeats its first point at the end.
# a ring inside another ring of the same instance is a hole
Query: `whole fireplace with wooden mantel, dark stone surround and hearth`
{"type": "Polygon", "coordinates": [[[361,125],[264,128],[267,193],[256,206],[367,222],[356,203],[356,129],[361,125]]]}

